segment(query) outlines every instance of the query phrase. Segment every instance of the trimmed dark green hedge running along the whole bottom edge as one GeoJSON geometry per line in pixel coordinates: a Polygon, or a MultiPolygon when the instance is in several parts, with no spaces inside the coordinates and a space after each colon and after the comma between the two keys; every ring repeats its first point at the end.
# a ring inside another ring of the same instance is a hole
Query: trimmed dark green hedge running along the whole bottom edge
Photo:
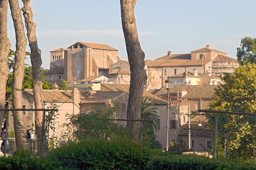
{"type": "Polygon", "coordinates": [[[32,157],[28,151],[0,157],[1,170],[256,170],[254,163],[209,158],[199,155],[173,155],[152,150],[131,141],[92,139],[71,142],[32,157]]]}

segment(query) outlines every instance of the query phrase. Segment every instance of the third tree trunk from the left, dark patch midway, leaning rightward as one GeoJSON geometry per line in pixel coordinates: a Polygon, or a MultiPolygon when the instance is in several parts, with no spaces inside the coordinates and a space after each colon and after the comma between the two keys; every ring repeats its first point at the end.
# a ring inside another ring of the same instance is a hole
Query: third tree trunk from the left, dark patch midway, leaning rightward
{"type": "MultiPolygon", "coordinates": [[[[23,16],[25,19],[25,26],[27,28],[27,37],[29,41],[29,47],[31,51],[30,60],[32,64],[32,81],[33,81],[33,94],[35,101],[35,108],[42,109],[43,101],[41,98],[42,94],[42,80],[40,68],[42,65],[41,51],[38,48],[38,41],[36,35],[36,23],[33,21],[33,11],[29,6],[30,0],[23,1],[23,16]]],[[[37,146],[39,155],[42,155],[44,149],[44,138],[42,133],[42,111],[36,111],[36,135],[37,135],[37,146]]]]}

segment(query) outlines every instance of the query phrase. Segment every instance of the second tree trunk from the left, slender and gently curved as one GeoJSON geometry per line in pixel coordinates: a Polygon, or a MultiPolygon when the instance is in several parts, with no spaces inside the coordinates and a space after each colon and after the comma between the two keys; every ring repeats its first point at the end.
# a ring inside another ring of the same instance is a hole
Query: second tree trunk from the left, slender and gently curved
{"type": "MultiPolygon", "coordinates": [[[[27,39],[25,36],[24,25],[22,22],[22,15],[20,11],[20,5],[18,0],[9,0],[10,9],[12,13],[15,36],[16,36],[16,51],[15,51],[15,63],[13,67],[13,108],[22,108],[22,81],[24,77],[25,68],[25,56],[27,39]]],[[[22,112],[17,111],[13,113],[14,119],[14,131],[16,138],[17,149],[25,148],[25,129],[22,129],[20,122],[20,114],[22,112]]]]}

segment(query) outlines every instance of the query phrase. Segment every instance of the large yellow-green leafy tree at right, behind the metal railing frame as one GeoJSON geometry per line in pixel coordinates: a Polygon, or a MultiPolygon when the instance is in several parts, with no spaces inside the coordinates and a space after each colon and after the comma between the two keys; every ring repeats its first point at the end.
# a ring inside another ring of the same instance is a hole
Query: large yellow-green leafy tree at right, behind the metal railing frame
{"type": "MultiPolygon", "coordinates": [[[[225,84],[216,89],[210,104],[213,110],[256,112],[256,64],[247,63],[227,74],[225,84]]],[[[245,136],[255,136],[256,118],[245,115],[220,114],[218,129],[230,130],[229,155],[242,159],[251,157],[251,143],[245,136]]],[[[224,152],[225,134],[219,133],[218,151],[224,152]]]]}

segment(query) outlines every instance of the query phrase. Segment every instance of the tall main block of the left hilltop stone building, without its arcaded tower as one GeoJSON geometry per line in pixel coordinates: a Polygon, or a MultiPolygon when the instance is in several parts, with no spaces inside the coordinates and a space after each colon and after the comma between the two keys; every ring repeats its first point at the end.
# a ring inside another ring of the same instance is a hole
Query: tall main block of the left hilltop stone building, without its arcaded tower
{"type": "Polygon", "coordinates": [[[78,82],[90,76],[108,77],[109,66],[118,62],[118,50],[106,44],[77,42],[67,48],[63,78],[78,82]]]}

